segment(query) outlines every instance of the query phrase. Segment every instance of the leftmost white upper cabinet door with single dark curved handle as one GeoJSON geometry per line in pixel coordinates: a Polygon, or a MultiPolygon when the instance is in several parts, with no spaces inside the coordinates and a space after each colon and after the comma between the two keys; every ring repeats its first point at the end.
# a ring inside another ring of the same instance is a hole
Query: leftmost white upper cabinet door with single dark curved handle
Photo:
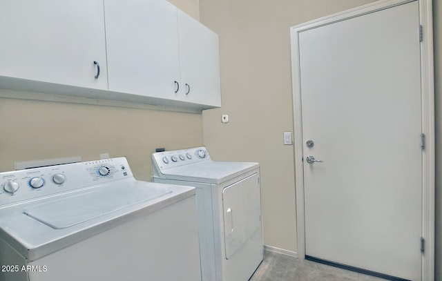
{"type": "Polygon", "coordinates": [[[1,0],[0,37],[0,76],[107,89],[102,0],[1,0]]]}

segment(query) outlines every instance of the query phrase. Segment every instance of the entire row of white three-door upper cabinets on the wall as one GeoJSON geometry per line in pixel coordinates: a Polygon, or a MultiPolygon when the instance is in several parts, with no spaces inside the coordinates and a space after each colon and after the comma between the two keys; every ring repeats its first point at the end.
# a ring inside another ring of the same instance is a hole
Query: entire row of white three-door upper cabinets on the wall
{"type": "Polygon", "coordinates": [[[0,38],[0,88],[221,106],[218,35],[166,0],[1,0],[0,38]]]}

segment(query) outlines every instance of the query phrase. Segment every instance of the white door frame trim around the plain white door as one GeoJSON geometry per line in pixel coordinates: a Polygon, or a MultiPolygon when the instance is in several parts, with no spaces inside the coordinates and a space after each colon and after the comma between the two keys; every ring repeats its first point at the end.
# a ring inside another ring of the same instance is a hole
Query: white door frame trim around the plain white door
{"type": "MultiPolygon", "coordinates": [[[[422,255],[421,280],[434,280],[434,200],[435,200],[435,140],[434,140],[434,61],[432,0],[380,0],[344,12],[329,15],[291,27],[291,67],[294,108],[294,162],[296,183],[296,233],[298,258],[305,259],[305,205],[304,168],[302,162],[302,107],[300,95],[299,33],[329,23],[392,8],[404,3],[418,1],[419,21],[422,28],[421,41],[421,106],[422,133],[425,134],[425,148],[422,153],[422,237],[425,239],[425,253],[422,255]]],[[[416,39],[419,30],[416,30],[416,39]]],[[[416,241],[418,243],[418,241],[416,241]]]]}

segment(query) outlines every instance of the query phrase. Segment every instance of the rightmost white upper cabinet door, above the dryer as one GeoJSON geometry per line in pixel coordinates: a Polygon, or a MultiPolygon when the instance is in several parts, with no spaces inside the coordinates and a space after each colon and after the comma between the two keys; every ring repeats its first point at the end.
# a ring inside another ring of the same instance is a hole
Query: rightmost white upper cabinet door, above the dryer
{"type": "Polygon", "coordinates": [[[182,100],[221,106],[218,35],[178,10],[182,100]]]}

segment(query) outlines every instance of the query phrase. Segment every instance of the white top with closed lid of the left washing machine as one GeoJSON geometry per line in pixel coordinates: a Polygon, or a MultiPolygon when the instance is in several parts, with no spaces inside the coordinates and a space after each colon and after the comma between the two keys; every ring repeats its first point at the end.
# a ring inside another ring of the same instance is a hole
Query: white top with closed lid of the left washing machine
{"type": "Polygon", "coordinates": [[[0,209],[0,238],[32,262],[195,196],[195,188],[133,177],[0,209]]]}

